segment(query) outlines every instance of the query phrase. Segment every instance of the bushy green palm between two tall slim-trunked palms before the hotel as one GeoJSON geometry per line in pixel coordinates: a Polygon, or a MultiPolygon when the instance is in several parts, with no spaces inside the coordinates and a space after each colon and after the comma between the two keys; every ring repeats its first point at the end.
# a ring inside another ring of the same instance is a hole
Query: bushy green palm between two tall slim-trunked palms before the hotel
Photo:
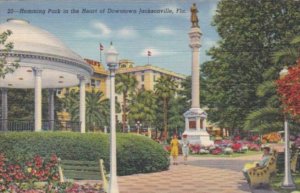
{"type": "Polygon", "coordinates": [[[156,119],[157,108],[155,94],[152,91],[139,90],[129,104],[128,119],[131,123],[140,121],[143,125],[151,128],[156,119]]]}

